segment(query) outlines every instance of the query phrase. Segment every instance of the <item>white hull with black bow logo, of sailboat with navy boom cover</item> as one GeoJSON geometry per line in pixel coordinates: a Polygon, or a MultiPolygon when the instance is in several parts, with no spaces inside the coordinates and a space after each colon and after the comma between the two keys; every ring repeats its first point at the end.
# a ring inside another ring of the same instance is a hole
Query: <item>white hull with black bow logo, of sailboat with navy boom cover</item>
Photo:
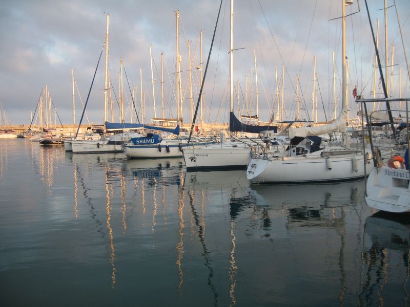
{"type": "Polygon", "coordinates": [[[245,169],[251,160],[251,148],[241,142],[226,142],[203,148],[183,149],[187,170],[245,169]]]}

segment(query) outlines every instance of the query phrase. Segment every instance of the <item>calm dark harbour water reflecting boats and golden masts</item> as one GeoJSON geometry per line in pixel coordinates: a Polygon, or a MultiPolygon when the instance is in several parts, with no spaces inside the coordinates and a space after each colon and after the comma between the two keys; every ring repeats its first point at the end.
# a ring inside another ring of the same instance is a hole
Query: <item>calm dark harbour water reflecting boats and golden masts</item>
{"type": "Polygon", "coordinates": [[[409,305],[410,218],[376,213],[363,187],[0,140],[0,302],[409,305]]]}

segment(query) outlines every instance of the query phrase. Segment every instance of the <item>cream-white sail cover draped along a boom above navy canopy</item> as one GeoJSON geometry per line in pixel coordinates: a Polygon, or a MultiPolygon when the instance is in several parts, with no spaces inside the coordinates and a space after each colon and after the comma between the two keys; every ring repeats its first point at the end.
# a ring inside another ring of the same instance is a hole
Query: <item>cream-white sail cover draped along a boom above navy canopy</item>
{"type": "Polygon", "coordinates": [[[347,109],[343,108],[333,123],[317,127],[291,128],[289,129],[289,137],[291,139],[294,137],[305,138],[310,136],[320,136],[322,134],[331,134],[332,132],[346,132],[346,117],[347,109]]]}

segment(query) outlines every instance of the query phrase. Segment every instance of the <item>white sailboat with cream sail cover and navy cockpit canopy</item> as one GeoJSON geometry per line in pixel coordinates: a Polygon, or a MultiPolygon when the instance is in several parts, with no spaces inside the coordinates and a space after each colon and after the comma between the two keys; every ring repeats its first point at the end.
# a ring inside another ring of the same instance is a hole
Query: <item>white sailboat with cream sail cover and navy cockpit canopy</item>
{"type": "Polygon", "coordinates": [[[247,168],[252,183],[338,182],[363,178],[373,165],[364,148],[346,146],[346,42],[345,6],[342,0],[342,109],[330,124],[316,127],[290,128],[291,139],[281,154],[266,152],[255,156],[247,168]],[[323,134],[342,133],[343,144],[322,142],[323,134]]]}

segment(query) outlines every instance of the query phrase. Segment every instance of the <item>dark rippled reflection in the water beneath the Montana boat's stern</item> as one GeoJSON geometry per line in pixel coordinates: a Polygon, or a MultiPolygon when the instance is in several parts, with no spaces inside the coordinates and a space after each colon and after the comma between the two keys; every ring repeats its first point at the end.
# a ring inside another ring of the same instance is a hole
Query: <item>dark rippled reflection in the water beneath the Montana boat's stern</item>
{"type": "Polygon", "coordinates": [[[379,211],[365,222],[360,303],[408,305],[410,220],[407,214],[379,211]]]}

